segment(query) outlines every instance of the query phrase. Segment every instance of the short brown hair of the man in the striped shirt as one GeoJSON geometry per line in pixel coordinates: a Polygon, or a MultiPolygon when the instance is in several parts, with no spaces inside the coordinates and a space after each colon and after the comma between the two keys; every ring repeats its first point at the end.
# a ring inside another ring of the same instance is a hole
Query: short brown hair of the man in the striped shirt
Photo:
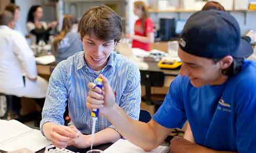
{"type": "Polygon", "coordinates": [[[94,34],[98,39],[119,42],[121,39],[121,18],[111,8],[101,5],[87,10],[78,26],[81,39],[94,34]]]}

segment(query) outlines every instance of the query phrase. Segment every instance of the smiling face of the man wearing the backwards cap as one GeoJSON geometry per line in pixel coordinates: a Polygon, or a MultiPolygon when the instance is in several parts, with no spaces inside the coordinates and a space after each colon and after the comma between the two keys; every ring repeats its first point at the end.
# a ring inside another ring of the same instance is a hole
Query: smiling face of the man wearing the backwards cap
{"type": "Polygon", "coordinates": [[[215,63],[212,59],[188,54],[181,48],[178,55],[182,60],[180,75],[188,76],[194,87],[219,85],[227,79],[221,74],[221,61],[215,63]]]}

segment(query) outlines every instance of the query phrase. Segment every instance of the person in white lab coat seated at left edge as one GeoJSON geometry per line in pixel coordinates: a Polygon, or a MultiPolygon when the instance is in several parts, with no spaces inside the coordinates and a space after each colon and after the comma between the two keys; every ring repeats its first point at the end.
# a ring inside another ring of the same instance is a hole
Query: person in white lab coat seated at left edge
{"type": "Polygon", "coordinates": [[[25,37],[9,27],[12,22],[12,13],[0,13],[0,92],[36,98],[42,107],[48,82],[37,75],[34,53],[25,37]]]}

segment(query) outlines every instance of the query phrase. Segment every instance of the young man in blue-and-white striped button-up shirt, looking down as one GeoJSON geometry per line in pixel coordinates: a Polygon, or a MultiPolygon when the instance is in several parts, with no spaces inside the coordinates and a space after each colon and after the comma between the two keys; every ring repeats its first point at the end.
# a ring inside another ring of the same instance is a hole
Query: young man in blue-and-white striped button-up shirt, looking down
{"type": "MultiPolygon", "coordinates": [[[[46,101],[40,123],[41,132],[60,148],[91,145],[92,117],[86,108],[89,89],[99,74],[108,78],[119,107],[132,117],[139,119],[140,72],[123,56],[113,52],[121,38],[121,20],[107,6],[93,7],[86,11],[79,23],[79,33],[84,51],[60,62],[50,77],[46,101]],[[87,98],[87,99],[86,99],[87,98]],[[63,113],[68,101],[71,127],[82,134],[76,143],[72,128],[64,126],[63,113]]],[[[104,116],[96,124],[94,145],[115,142],[121,135],[104,116]]]]}

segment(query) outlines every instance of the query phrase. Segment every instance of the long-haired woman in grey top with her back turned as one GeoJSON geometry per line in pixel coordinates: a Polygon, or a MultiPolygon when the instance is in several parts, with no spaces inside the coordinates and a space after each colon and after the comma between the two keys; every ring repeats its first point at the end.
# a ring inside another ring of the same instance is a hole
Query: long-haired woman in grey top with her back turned
{"type": "Polygon", "coordinates": [[[77,23],[74,16],[64,15],[61,32],[53,42],[53,54],[57,63],[83,50],[83,43],[77,32],[77,23]]]}

